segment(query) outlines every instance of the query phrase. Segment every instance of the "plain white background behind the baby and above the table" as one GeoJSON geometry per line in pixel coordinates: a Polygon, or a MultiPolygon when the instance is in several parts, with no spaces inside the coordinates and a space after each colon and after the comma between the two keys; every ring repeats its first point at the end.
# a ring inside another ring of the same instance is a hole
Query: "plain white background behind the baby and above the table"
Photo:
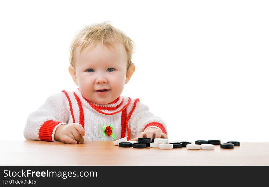
{"type": "Polygon", "coordinates": [[[268,141],[268,1],[5,1],[0,6],[1,136],[76,85],[69,44],[111,21],[136,43],[122,95],[167,123],[170,140],[268,141]]]}

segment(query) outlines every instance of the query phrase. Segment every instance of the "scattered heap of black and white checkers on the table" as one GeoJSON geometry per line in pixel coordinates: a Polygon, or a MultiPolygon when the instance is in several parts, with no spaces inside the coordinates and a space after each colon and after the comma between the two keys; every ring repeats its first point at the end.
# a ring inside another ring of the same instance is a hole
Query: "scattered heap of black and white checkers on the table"
{"type": "Polygon", "coordinates": [[[240,146],[239,141],[228,141],[227,143],[220,143],[220,140],[197,140],[195,144],[190,141],[176,141],[168,143],[168,139],[155,138],[151,142],[151,138],[138,138],[137,141],[127,141],[126,137],[113,141],[114,145],[119,147],[132,147],[132,148],[159,148],[159,149],[174,149],[187,147],[187,149],[215,149],[215,145],[220,145],[222,149],[233,149],[234,146],[240,146]]]}

